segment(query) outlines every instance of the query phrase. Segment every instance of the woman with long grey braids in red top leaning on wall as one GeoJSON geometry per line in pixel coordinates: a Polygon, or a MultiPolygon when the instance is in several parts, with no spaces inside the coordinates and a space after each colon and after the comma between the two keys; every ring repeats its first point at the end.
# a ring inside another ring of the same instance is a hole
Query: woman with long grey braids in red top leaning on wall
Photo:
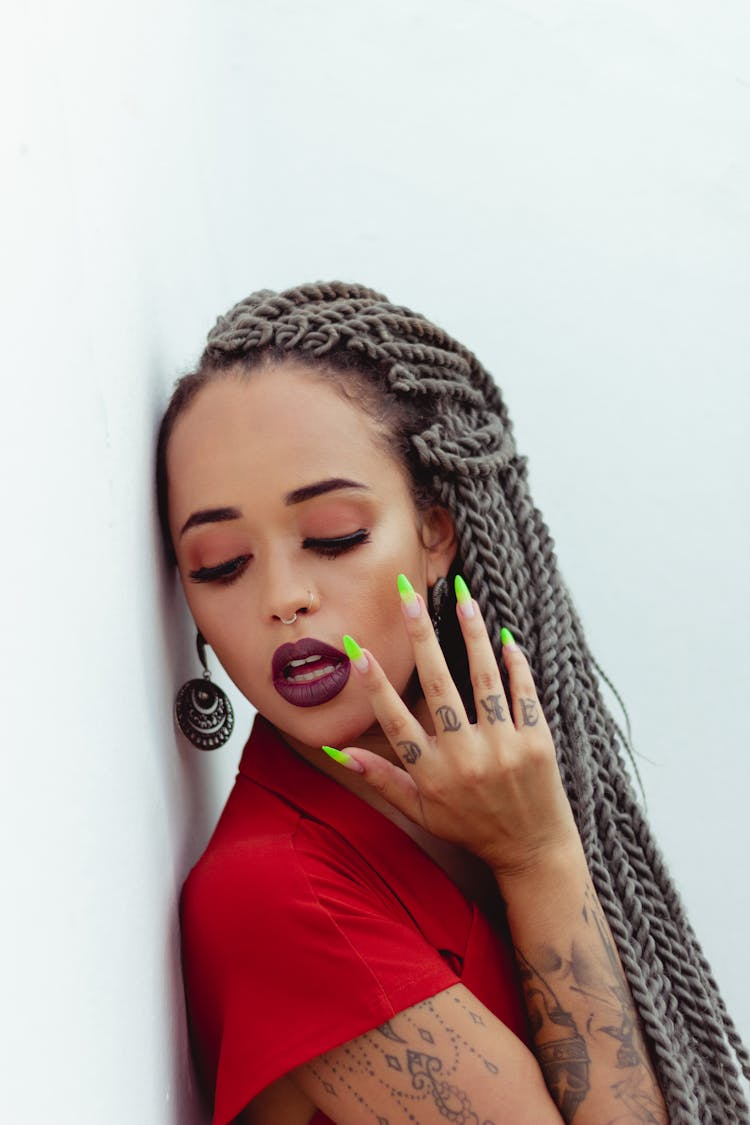
{"type": "Polygon", "coordinates": [[[215,1125],[746,1120],[476,358],[359,286],[255,294],[178,385],[157,476],[259,711],[182,899],[215,1125]]]}

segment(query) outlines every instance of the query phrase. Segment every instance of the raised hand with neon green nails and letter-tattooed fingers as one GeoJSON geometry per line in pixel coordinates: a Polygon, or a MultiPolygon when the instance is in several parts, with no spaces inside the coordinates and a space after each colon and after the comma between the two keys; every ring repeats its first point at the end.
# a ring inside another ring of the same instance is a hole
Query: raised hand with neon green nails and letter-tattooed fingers
{"type": "Polygon", "coordinates": [[[561,849],[580,848],[531,669],[510,633],[503,630],[508,701],[479,606],[457,579],[477,705],[472,724],[422,597],[404,579],[399,588],[435,734],[412,714],[372,654],[346,638],[376,719],[404,768],[362,747],[332,756],[359,770],[415,824],[473,852],[499,879],[524,874],[561,849]]]}

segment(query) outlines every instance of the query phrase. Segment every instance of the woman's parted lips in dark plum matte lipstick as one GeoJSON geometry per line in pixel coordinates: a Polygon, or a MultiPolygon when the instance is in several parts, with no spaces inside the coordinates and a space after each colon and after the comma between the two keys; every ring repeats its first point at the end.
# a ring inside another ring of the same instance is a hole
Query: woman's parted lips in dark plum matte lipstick
{"type": "Polygon", "coordinates": [[[343,691],[352,666],[337,648],[314,637],[280,645],[271,660],[273,686],[295,706],[318,706],[343,691]]]}

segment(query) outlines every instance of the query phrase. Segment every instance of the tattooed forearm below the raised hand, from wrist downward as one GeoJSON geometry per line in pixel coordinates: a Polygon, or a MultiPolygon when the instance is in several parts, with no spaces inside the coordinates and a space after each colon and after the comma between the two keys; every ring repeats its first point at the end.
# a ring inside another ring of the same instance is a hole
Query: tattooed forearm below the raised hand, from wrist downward
{"type": "Polygon", "coordinates": [[[665,1125],[638,1012],[580,844],[496,878],[533,1050],[564,1120],[665,1125]]]}

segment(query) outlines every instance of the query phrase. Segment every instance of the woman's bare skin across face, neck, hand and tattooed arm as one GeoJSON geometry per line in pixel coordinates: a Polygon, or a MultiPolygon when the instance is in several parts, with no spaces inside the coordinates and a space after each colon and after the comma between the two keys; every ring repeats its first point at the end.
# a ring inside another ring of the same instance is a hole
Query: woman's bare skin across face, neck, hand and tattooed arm
{"type": "Polygon", "coordinates": [[[168,474],[178,566],[201,632],[311,765],[399,822],[459,884],[484,862],[505,902],[534,1046],[457,984],[274,1082],[242,1120],[307,1125],[317,1106],[341,1125],[442,1125],[460,1105],[451,1119],[485,1125],[663,1125],[528,665],[504,648],[506,698],[478,606],[463,603],[471,724],[430,623],[426,588],[455,552],[449,514],[417,512],[376,424],[291,362],[205,387],[175,423],[168,474]],[[364,487],[286,502],[332,478],[364,487]],[[233,519],[181,533],[196,512],[220,508],[233,519]],[[352,550],[320,554],[319,539],[362,529],[368,540],[352,550]],[[198,568],[233,559],[231,583],[195,580],[198,568]],[[396,594],[399,572],[416,590],[412,613],[396,594]],[[341,648],[344,632],[367,648],[335,699],[300,709],[275,692],[280,644],[315,637],[341,648]],[[346,749],[350,767],[326,758],[324,742],[346,749]]]}

